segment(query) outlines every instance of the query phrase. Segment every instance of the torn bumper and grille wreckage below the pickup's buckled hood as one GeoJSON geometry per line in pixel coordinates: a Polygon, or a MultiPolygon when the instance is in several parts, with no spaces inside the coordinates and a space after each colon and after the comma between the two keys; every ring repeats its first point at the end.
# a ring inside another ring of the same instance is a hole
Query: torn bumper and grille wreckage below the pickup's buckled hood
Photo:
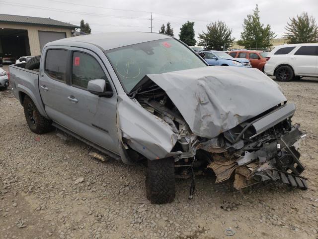
{"type": "Polygon", "coordinates": [[[306,178],[300,176],[305,168],[298,152],[306,134],[299,125],[292,126],[294,112],[294,104],[277,106],[224,132],[211,143],[209,140],[199,144],[197,148],[211,152],[216,158],[208,165],[217,175],[216,182],[225,181],[235,173],[236,189],[268,180],[307,189],[306,178]],[[216,150],[223,151],[216,153],[216,150]],[[231,157],[225,158],[224,153],[231,157]]]}

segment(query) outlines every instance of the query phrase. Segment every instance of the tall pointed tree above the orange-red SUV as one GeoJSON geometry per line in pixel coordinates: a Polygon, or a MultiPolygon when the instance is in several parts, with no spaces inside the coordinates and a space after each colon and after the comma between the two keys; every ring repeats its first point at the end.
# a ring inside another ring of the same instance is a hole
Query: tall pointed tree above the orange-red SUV
{"type": "Polygon", "coordinates": [[[243,31],[240,33],[238,44],[245,48],[268,48],[272,44],[270,41],[276,37],[271,31],[270,25],[260,23],[258,5],[253,10],[253,14],[248,14],[243,21],[243,31]]]}

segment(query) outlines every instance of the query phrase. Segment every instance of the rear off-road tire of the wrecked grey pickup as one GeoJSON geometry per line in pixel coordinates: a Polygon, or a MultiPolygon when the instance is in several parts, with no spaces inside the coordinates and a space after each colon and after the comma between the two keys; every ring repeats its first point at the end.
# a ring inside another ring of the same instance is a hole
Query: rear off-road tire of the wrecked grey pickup
{"type": "Polygon", "coordinates": [[[46,119],[45,117],[41,116],[35,104],[28,96],[24,98],[23,109],[26,122],[32,132],[42,134],[52,130],[52,120],[46,119]],[[32,117],[30,117],[31,109],[32,117]]]}

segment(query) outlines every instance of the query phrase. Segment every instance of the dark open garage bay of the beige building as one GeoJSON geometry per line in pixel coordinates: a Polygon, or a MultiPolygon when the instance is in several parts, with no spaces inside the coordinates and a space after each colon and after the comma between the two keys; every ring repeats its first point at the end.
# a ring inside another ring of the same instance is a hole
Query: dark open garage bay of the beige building
{"type": "Polygon", "coordinates": [[[27,30],[0,28],[0,57],[11,57],[12,61],[30,55],[27,30]]]}

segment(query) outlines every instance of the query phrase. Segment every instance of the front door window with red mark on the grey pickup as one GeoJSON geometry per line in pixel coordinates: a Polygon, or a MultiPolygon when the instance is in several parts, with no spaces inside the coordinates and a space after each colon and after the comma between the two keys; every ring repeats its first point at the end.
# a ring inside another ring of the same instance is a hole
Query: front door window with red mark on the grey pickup
{"type": "Polygon", "coordinates": [[[87,89],[88,81],[104,79],[106,75],[97,60],[85,53],[74,52],[72,64],[72,85],[87,89]]]}

